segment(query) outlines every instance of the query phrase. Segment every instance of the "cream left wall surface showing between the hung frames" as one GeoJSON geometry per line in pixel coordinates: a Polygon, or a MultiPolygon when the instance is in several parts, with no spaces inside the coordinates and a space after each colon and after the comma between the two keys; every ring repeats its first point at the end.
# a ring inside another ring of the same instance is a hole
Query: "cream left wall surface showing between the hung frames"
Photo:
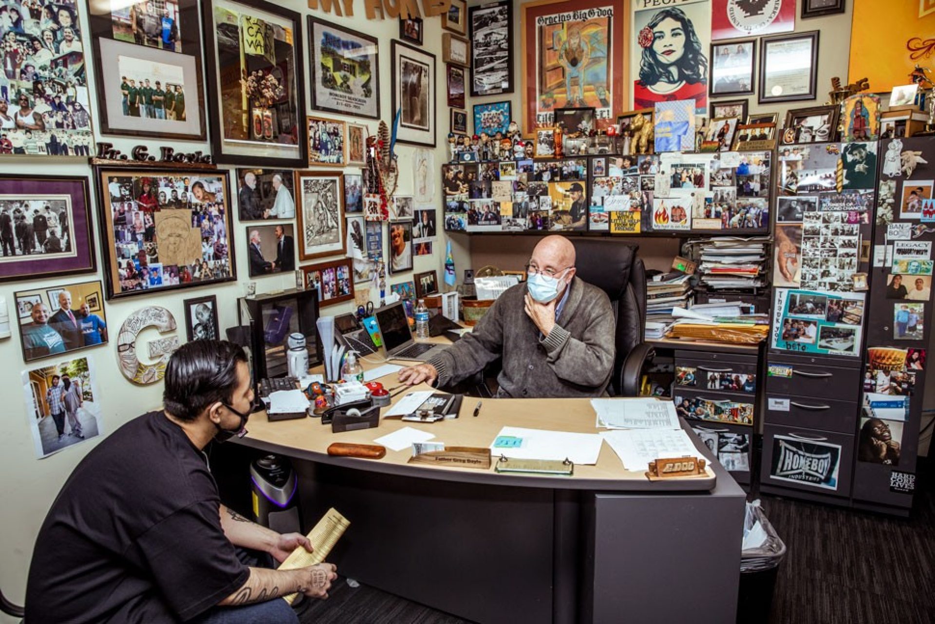
{"type": "MultiPolygon", "coordinates": [[[[82,8],[85,3],[79,3],[82,8]]],[[[303,13],[309,14],[309,9],[303,0],[284,0],[277,1],[274,4],[291,8],[303,13]]],[[[325,16],[317,13],[326,20],[338,22],[347,25],[354,30],[361,31],[371,36],[378,36],[380,40],[380,79],[381,79],[381,114],[382,119],[391,123],[393,119],[392,96],[391,96],[391,56],[390,41],[399,34],[399,23],[396,20],[371,21],[368,22],[364,15],[364,3],[360,0],[354,1],[355,16],[353,18],[338,18],[337,16],[325,16]]],[[[87,11],[82,10],[81,15],[82,33],[90,32],[88,29],[87,11]]],[[[439,145],[444,144],[445,137],[448,134],[448,109],[445,97],[445,65],[441,62],[441,26],[439,18],[426,20],[424,28],[424,50],[432,52],[437,57],[436,89],[437,89],[437,139],[439,145]]],[[[303,17],[302,23],[302,41],[307,42],[306,23],[303,17]]],[[[85,39],[85,50],[92,49],[90,40],[85,39]]],[[[306,59],[309,58],[308,51],[306,59]]],[[[90,64],[89,64],[90,65],[90,64]]],[[[96,100],[94,76],[91,76],[89,85],[92,100],[96,100]]],[[[306,71],[306,81],[308,84],[309,76],[306,71]]],[[[308,97],[308,95],[307,95],[308,97]]],[[[97,114],[97,109],[92,106],[93,115],[97,114]]],[[[311,111],[309,110],[309,113],[311,111]]],[[[315,113],[324,117],[340,117],[331,113],[315,113]]],[[[377,122],[374,120],[362,120],[354,118],[343,118],[354,123],[366,123],[371,134],[376,133],[377,122]]],[[[98,140],[102,139],[97,134],[98,140]]],[[[188,141],[172,142],[158,140],[133,140],[130,138],[103,138],[116,144],[118,149],[128,152],[131,147],[139,143],[146,144],[153,152],[160,145],[172,145],[178,151],[194,152],[201,150],[210,152],[210,146],[207,143],[188,141]]],[[[413,178],[410,167],[413,147],[397,146],[396,152],[399,155],[399,195],[412,195],[413,178]]],[[[435,152],[436,168],[446,158],[444,150],[435,152]]],[[[230,167],[232,170],[234,167],[230,167]]],[[[18,159],[11,161],[3,159],[0,169],[4,173],[16,173],[29,175],[30,173],[61,174],[61,175],[81,175],[90,176],[91,167],[81,164],[79,161],[69,163],[56,163],[51,160],[28,160],[18,159]]],[[[354,171],[349,168],[349,171],[354,171]]],[[[356,168],[359,170],[359,167],[356,168]]],[[[440,179],[439,179],[440,181],[440,179]]],[[[437,184],[439,183],[437,181],[437,184]]],[[[236,196],[236,181],[231,179],[232,194],[236,196]]],[[[93,188],[93,187],[92,187],[93,188]]],[[[434,202],[440,215],[440,196],[439,189],[436,189],[439,199],[434,202]]],[[[92,191],[94,196],[94,191],[92,191]]],[[[94,204],[94,239],[96,241],[98,264],[100,264],[100,231],[97,227],[96,200],[94,204]]],[[[81,352],[93,358],[94,366],[97,369],[97,385],[103,394],[101,400],[101,427],[105,433],[112,432],[119,428],[129,419],[143,414],[151,409],[157,409],[161,405],[162,384],[140,387],[132,385],[126,381],[120,371],[117,369],[117,346],[114,341],[116,330],[121,326],[126,317],[144,306],[159,305],[164,306],[171,311],[180,326],[180,337],[184,340],[184,319],[185,314],[182,308],[182,299],[189,297],[203,297],[206,295],[216,295],[218,297],[218,312],[221,327],[232,327],[237,324],[237,297],[242,294],[241,283],[248,279],[247,269],[247,249],[245,243],[244,230],[246,225],[237,223],[236,203],[234,210],[234,227],[232,230],[233,239],[237,244],[237,282],[213,285],[209,288],[192,288],[182,291],[178,294],[151,294],[141,297],[133,297],[118,302],[107,302],[106,312],[108,316],[108,326],[110,327],[110,340],[107,345],[97,347],[88,351],[81,352]]],[[[276,223],[276,222],[273,222],[276,223]]],[[[441,219],[438,220],[439,225],[441,219]]],[[[386,239],[386,228],[384,226],[384,240],[386,239]]],[[[437,239],[438,249],[436,253],[430,256],[417,257],[414,259],[415,270],[442,269],[444,238],[437,239]],[[440,249],[440,251],[439,251],[440,249]]],[[[384,254],[387,251],[387,243],[384,242],[384,254]]],[[[321,258],[321,261],[334,258],[321,258]]],[[[305,263],[311,264],[311,263],[305,263]]],[[[31,288],[50,288],[62,283],[78,283],[93,279],[103,279],[103,272],[98,268],[97,274],[86,274],[70,277],[63,280],[41,280],[21,283],[3,283],[0,284],[0,296],[7,298],[7,307],[11,312],[15,312],[13,307],[13,293],[18,290],[27,290],[31,288]]],[[[392,276],[387,282],[396,283],[412,279],[411,273],[392,276]]],[[[257,280],[257,291],[268,292],[271,290],[289,288],[294,285],[292,274],[269,276],[257,280]]],[[[387,292],[389,287],[387,286],[387,292]]],[[[373,293],[377,297],[376,292],[373,293]]],[[[324,312],[342,313],[350,312],[352,303],[344,303],[333,307],[325,308],[324,312]]],[[[11,320],[15,323],[15,313],[11,313],[11,320]]],[[[14,326],[15,327],[15,326],[14,326]]],[[[140,340],[150,340],[158,334],[154,329],[146,330],[140,335],[140,340]]],[[[44,360],[49,363],[52,360],[44,360]]],[[[29,429],[29,419],[26,414],[26,408],[23,399],[21,371],[26,367],[23,365],[20,338],[14,328],[12,338],[0,340],[0,379],[3,380],[2,388],[7,400],[6,410],[3,417],[0,418],[0,440],[4,442],[4,448],[0,452],[0,474],[4,475],[0,481],[0,498],[5,501],[2,510],[0,510],[0,588],[4,593],[16,602],[22,602],[22,596],[25,591],[26,573],[29,566],[29,560],[33,551],[33,544],[36,541],[36,533],[42,523],[43,518],[49,510],[51,501],[58,493],[61,486],[65,483],[72,469],[78,464],[94,445],[103,438],[97,438],[87,443],[80,443],[66,448],[47,459],[37,460],[33,451],[33,442],[29,429]]],[[[63,544],[62,547],[67,547],[63,544]]],[[[0,622],[7,620],[0,616],[0,622]]]]}

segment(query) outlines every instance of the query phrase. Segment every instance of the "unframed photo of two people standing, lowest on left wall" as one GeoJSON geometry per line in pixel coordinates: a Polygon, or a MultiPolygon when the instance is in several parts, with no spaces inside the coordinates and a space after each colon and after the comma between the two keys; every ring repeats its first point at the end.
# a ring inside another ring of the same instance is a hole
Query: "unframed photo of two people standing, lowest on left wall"
{"type": "Polygon", "coordinates": [[[102,431],[100,395],[91,357],[22,371],[26,416],[36,457],[43,459],[102,431]]]}

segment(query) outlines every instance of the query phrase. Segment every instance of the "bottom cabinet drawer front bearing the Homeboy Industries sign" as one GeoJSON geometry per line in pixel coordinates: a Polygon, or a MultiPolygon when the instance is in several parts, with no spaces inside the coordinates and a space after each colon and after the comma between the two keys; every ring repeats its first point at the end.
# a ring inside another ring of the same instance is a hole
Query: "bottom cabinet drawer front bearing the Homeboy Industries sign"
{"type": "Polygon", "coordinates": [[[854,469],[854,436],[809,428],[763,428],[764,485],[849,497],[854,469]]]}

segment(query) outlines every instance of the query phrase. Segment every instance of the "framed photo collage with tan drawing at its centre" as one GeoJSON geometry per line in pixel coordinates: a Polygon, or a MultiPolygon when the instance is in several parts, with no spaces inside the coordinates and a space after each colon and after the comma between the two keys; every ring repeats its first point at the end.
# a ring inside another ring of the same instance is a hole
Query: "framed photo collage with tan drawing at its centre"
{"type": "Polygon", "coordinates": [[[113,296],[233,279],[227,178],[102,171],[113,296]]]}

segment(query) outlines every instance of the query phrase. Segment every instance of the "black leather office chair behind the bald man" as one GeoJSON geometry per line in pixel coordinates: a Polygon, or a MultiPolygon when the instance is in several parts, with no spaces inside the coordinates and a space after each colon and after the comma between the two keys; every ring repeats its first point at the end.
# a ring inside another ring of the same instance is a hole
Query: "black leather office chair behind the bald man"
{"type": "Polygon", "coordinates": [[[608,391],[616,397],[640,394],[640,376],[653,348],[643,342],[646,329],[646,269],[638,245],[605,239],[572,239],[577,275],[608,297],[616,317],[617,354],[608,391]]]}

